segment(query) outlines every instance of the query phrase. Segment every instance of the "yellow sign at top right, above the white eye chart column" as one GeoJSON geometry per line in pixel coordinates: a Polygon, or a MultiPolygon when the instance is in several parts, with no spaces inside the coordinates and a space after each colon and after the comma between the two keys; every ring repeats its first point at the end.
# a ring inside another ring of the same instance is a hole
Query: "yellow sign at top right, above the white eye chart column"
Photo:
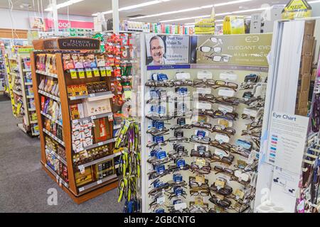
{"type": "Polygon", "coordinates": [[[282,11],[282,19],[311,17],[311,6],[305,0],[291,0],[282,11]]]}

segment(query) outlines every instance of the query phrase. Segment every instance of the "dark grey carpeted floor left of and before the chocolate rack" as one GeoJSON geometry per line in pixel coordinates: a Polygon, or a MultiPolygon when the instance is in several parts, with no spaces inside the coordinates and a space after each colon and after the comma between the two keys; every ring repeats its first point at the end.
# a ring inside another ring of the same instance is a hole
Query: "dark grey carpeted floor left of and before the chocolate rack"
{"type": "Polygon", "coordinates": [[[0,212],[121,212],[117,189],[84,204],[75,204],[41,169],[40,141],[16,127],[11,102],[0,101],[0,212]],[[47,191],[58,191],[58,205],[49,206],[47,191]]]}

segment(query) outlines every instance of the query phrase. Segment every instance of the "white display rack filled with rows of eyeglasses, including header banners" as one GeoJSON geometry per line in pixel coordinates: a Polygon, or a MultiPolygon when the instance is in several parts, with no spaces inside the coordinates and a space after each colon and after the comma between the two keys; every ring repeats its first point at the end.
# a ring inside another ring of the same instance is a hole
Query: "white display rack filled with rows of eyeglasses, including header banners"
{"type": "Polygon", "coordinates": [[[252,211],[272,35],[257,37],[250,61],[248,35],[142,38],[145,212],[252,211]]]}

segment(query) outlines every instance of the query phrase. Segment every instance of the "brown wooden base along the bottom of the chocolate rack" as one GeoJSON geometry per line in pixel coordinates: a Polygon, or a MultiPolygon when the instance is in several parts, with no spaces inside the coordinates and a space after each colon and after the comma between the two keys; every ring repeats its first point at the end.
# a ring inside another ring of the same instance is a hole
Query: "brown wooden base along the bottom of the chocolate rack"
{"type": "MultiPolygon", "coordinates": [[[[43,170],[45,170],[48,173],[49,177],[51,177],[53,181],[56,181],[55,176],[53,176],[53,174],[45,167],[45,165],[43,165],[42,162],[41,165],[43,170]]],[[[95,198],[96,196],[100,196],[100,194],[109,192],[112,189],[116,189],[118,187],[118,179],[111,179],[109,182],[105,182],[105,184],[97,185],[97,187],[92,188],[92,191],[83,192],[80,195],[75,195],[63,184],[60,187],[71,197],[71,199],[73,199],[73,201],[75,201],[76,204],[82,204],[83,202],[95,198]]]]}

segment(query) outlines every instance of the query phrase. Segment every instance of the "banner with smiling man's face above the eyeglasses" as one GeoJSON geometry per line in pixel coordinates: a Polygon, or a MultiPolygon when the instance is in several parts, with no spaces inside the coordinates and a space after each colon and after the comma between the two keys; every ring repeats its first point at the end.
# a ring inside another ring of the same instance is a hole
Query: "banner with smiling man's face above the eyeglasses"
{"type": "Polygon", "coordinates": [[[188,63],[188,35],[146,34],[146,65],[160,67],[188,63]]]}

